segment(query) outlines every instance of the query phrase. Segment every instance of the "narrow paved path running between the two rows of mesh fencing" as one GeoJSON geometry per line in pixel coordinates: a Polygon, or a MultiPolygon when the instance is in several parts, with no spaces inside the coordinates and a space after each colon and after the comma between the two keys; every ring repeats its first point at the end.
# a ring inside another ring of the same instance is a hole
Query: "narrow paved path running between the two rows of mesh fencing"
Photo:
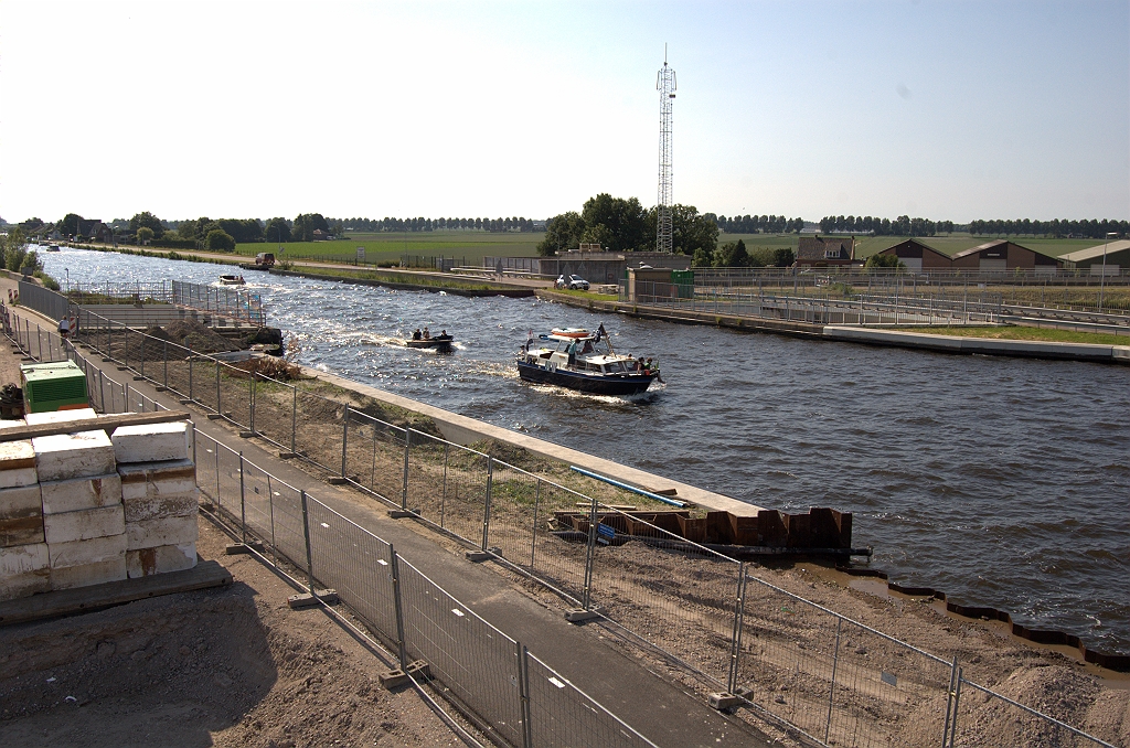
{"type": "MultiPolygon", "coordinates": [[[[0,282],[0,289],[3,284],[0,282]]],[[[2,292],[0,292],[2,293],[2,292]]],[[[19,308],[21,315],[34,312],[19,308]]],[[[50,321],[41,315],[44,327],[50,321]]],[[[50,329],[50,328],[49,328],[50,329]]],[[[133,382],[132,373],[120,372],[89,350],[84,355],[105,375],[171,409],[184,409],[173,393],[157,392],[148,382],[133,382]]],[[[7,355],[18,356],[8,351],[7,355]]],[[[194,411],[195,412],[195,411],[194,411]]],[[[331,486],[258,440],[241,438],[237,432],[206,416],[193,418],[207,436],[243,452],[263,470],[307,492],[377,537],[392,543],[397,553],[416,568],[470,607],[499,630],[523,643],[530,652],[599,702],[605,708],[658,746],[770,746],[772,742],[734,717],[720,714],[701,698],[641,667],[629,655],[598,638],[602,627],[574,626],[560,611],[548,610],[515,590],[505,579],[484,565],[467,562],[405,527],[411,520],[392,520],[388,506],[359,492],[331,486]]],[[[316,573],[316,569],[315,569],[316,573]]]]}

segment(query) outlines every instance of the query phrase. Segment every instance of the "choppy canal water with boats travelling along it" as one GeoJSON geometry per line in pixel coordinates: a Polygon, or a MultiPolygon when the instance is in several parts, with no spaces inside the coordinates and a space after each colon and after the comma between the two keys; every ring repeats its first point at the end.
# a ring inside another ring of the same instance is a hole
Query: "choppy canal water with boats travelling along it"
{"type": "MultiPolygon", "coordinates": [[[[211,282],[237,269],[68,251],[63,279],[211,282]]],[[[1130,653],[1130,369],[946,356],[244,272],[299,360],[734,498],[854,513],[894,581],[1130,653]],[[668,384],[633,400],[519,381],[551,327],[612,333],[668,384]],[[382,342],[453,332],[450,355],[382,342]]]]}

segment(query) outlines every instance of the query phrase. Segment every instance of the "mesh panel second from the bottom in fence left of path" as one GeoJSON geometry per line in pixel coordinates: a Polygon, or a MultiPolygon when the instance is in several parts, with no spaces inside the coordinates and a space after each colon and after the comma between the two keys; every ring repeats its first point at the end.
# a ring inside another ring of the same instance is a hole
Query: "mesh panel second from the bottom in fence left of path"
{"type": "Polygon", "coordinates": [[[398,559],[398,569],[409,659],[427,661],[461,702],[521,745],[516,643],[405,559],[398,559]]]}

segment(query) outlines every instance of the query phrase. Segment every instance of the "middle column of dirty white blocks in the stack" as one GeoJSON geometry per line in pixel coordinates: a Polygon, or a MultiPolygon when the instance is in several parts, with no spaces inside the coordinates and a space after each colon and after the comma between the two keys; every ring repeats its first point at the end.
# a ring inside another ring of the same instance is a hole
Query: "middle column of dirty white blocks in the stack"
{"type": "Polygon", "coordinates": [[[36,437],[32,444],[51,589],[127,579],[122,484],[110,437],[103,430],[79,432],[36,437]]]}

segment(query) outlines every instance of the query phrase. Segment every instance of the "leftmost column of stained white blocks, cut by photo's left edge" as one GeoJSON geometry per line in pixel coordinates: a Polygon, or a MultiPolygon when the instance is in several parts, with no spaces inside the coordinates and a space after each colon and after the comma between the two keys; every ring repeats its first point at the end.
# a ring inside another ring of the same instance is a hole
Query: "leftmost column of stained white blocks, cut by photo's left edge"
{"type": "Polygon", "coordinates": [[[28,440],[0,442],[0,600],[50,589],[35,450],[28,440]]]}

